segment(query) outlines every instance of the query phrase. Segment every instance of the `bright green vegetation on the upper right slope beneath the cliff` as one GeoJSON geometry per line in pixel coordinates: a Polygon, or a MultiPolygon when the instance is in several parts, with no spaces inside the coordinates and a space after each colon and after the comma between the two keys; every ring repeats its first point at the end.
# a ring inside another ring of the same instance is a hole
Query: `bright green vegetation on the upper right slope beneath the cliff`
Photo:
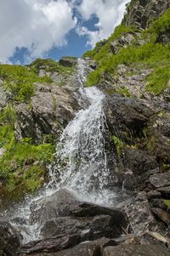
{"type": "Polygon", "coordinates": [[[128,31],[135,31],[135,28],[117,26],[104,46],[84,54],[93,57],[98,65],[98,69],[89,74],[87,86],[98,84],[104,74],[116,74],[117,65],[140,65],[143,68],[153,68],[146,89],[153,94],[161,94],[170,80],[170,44],[158,43],[158,38],[170,33],[170,9],[141,34],[141,38],[145,38],[143,45],[139,45],[136,37],[127,48],[121,48],[118,54],[111,54],[111,41],[128,31]]]}

